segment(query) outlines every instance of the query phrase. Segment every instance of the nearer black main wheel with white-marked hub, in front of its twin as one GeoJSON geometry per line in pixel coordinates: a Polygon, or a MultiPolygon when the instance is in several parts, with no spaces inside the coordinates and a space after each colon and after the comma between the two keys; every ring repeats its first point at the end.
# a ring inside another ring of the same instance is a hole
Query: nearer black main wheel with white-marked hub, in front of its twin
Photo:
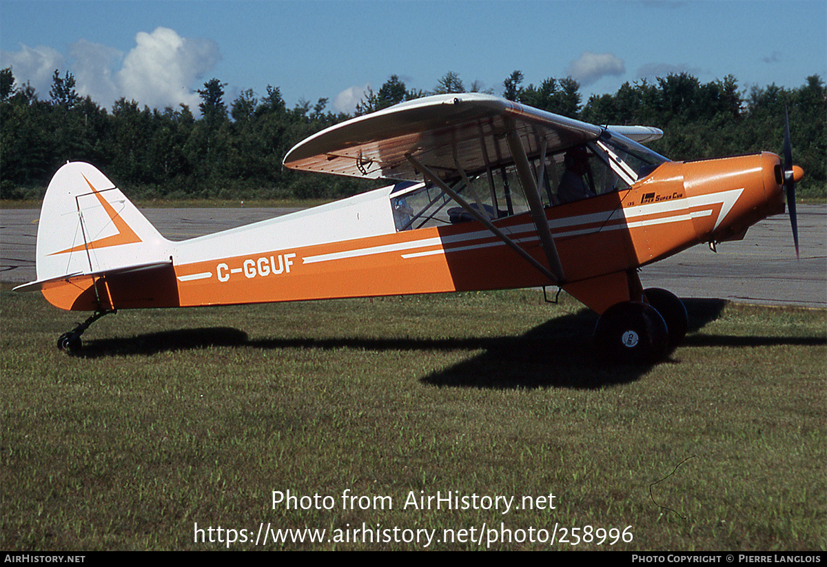
{"type": "Polygon", "coordinates": [[[600,316],[595,326],[595,345],[609,361],[654,362],[666,355],[668,344],[666,322],[647,303],[617,303],[600,316]]]}

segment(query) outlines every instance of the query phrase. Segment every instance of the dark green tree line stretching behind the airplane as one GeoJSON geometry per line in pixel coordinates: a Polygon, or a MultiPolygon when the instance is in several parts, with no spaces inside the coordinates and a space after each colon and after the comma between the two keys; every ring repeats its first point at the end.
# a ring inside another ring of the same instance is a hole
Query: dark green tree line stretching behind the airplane
{"type": "MultiPolygon", "coordinates": [[[[48,99],[41,100],[29,84],[14,85],[12,69],[0,70],[0,198],[41,198],[66,160],[95,164],[133,198],[340,198],[377,186],[281,165],[293,145],[352,117],[328,111],[327,98],[289,108],[279,88],[268,86],[263,95],[247,89],[227,104],[226,84],[211,79],[198,90],[196,118],[183,104],[141,108],[126,98],[108,111],[80,97],[74,76],[58,70],[48,99]]],[[[428,92],[406,88],[392,75],[378,91],[368,90],[354,115],[428,94],[466,91],[480,91],[479,83],[466,88],[452,71],[428,92]]],[[[700,83],[691,74],[670,74],[624,83],[616,93],[592,95],[583,104],[574,79],[524,86],[518,70],[495,94],[595,124],[657,126],[666,135],[650,147],[672,160],[759,150],[780,154],[788,108],[794,160],[806,173],[799,193],[827,194],[827,90],[818,75],[800,88],[742,89],[731,75],[700,83]]]]}

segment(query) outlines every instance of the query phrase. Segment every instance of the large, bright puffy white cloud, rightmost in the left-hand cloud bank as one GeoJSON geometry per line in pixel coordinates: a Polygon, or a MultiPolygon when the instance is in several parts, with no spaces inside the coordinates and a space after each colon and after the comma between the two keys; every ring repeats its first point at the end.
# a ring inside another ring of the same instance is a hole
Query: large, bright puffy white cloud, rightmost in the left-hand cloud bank
{"type": "Polygon", "coordinates": [[[213,69],[221,55],[214,41],[179,36],[166,27],[151,34],[139,32],[133,48],[117,73],[122,96],[151,108],[188,104],[198,113],[196,80],[213,69]]]}

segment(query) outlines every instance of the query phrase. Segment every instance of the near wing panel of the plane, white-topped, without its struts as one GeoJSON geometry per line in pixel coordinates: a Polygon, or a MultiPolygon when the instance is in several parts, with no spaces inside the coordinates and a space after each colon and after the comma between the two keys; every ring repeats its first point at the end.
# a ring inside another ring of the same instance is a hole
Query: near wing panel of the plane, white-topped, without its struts
{"type": "Polygon", "coordinates": [[[415,155],[442,179],[514,164],[509,131],[519,133],[528,158],[594,140],[604,128],[480,93],[437,95],[403,102],[331,126],[295,145],[290,169],[369,179],[422,179],[415,155]]]}

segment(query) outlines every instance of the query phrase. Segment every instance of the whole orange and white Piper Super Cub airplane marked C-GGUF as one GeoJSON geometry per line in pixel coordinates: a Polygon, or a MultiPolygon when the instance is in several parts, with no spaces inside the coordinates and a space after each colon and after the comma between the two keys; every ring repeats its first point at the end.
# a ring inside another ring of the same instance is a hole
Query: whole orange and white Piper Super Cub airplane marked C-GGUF
{"type": "Polygon", "coordinates": [[[784,159],[762,152],[667,160],[651,126],[597,126],[482,93],[436,95],[309,136],[284,166],[384,188],[263,222],[169,241],[91,164],[63,165],[45,193],[37,279],[49,303],[92,311],[58,340],[79,350],[118,309],[194,307],[495,288],[562,288],[600,315],[595,347],[661,360],[686,307],[638,270],[700,243],[742,239],[790,211],[784,159]]]}

